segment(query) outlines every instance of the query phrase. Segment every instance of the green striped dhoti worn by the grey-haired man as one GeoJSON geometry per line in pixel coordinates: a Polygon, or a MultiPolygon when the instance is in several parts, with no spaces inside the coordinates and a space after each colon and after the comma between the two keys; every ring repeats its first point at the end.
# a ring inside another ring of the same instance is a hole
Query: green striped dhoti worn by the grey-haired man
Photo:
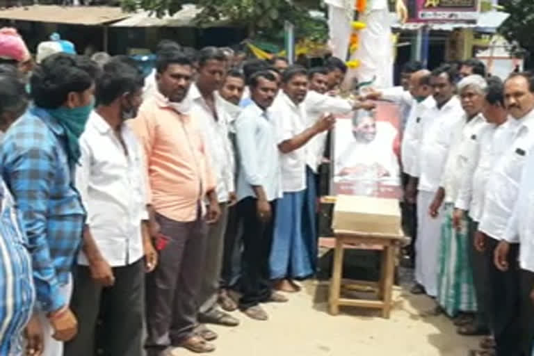
{"type": "Polygon", "coordinates": [[[454,229],[453,211],[454,204],[445,204],[438,260],[437,302],[448,316],[456,316],[458,312],[476,312],[476,296],[468,255],[471,243],[468,218],[464,214],[460,229],[454,229]]]}

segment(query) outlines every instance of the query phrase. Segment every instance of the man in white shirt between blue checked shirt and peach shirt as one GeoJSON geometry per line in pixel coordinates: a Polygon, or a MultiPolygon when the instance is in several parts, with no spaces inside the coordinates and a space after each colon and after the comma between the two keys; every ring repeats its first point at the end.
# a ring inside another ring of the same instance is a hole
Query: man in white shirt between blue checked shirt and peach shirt
{"type": "Polygon", "coordinates": [[[71,300],[79,333],[65,355],[143,355],[145,272],[157,254],[149,236],[143,156],[124,121],[142,102],[143,78],[136,68],[111,60],[97,83],[97,102],[80,139],[76,170],[88,212],[71,300]],[[97,337],[97,321],[101,330],[97,337]],[[110,334],[113,334],[110,337],[110,334]]]}

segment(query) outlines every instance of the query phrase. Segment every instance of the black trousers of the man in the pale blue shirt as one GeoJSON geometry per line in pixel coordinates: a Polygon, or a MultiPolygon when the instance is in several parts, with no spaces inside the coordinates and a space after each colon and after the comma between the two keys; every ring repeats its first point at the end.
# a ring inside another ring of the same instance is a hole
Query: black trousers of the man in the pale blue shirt
{"type": "Polygon", "coordinates": [[[269,256],[273,245],[273,225],[276,204],[270,204],[273,217],[264,222],[257,214],[257,200],[247,197],[238,202],[239,218],[243,223],[243,270],[241,273],[240,309],[266,302],[272,291],[269,280],[269,256]]]}

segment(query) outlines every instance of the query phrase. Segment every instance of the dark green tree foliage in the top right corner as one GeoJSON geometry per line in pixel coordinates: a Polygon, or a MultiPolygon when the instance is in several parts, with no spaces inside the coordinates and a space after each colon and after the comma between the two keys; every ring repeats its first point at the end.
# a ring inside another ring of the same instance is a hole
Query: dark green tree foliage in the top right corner
{"type": "MultiPolygon", "coordinates": [[[[526,49],[528,61],[533,62],[534,55],[534,1],[533,0],[501,0],[499,5],[510,17],[503,23],[499,32],[505,38],[526,49]]],[[[521,52],[519,48],[517,51],[521,52]]]]}

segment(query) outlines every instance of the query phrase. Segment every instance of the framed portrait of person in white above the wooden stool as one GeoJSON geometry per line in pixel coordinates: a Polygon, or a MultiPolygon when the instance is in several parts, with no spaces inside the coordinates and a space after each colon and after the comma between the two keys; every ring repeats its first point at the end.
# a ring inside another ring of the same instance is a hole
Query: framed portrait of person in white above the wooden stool
{"type": "Polygon", "coordinates": [[[372,111],[339,116],[332,134],[330,195],[400,199],[401,111],[376,102],[372,111]]]}

